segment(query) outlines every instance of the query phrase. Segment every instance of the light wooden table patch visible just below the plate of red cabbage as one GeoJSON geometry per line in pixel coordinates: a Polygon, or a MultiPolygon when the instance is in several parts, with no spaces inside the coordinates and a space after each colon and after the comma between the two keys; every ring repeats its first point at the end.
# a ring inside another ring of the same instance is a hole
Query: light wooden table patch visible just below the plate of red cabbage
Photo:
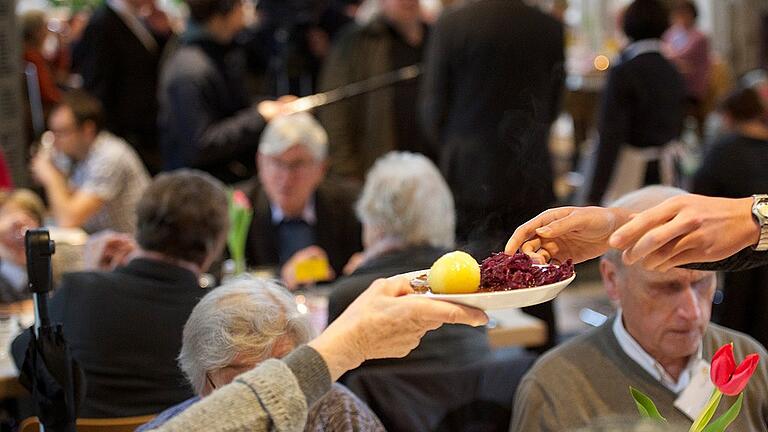
{"type": "Polygon", "coordinates": [[[547,343],[547,323],[520,309],[489,311],[488,317],[491,319],[488,340],[493,348],[535,347],[547,343]]]}

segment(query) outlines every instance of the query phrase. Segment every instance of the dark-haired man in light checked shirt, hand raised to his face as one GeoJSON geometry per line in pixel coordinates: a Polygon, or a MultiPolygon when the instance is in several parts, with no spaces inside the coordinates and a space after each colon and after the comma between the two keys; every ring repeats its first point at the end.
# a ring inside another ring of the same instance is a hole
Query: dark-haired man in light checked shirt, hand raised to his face
{"type": "Polygon", "coordinates": [[[133,148],[103,130],[103,119],[97,99],[82,90],[67,93],[48,121],[53,148],[38,151],[32,174],[55,224],[133,233],[133,211],[149,176],[133,148]]]}

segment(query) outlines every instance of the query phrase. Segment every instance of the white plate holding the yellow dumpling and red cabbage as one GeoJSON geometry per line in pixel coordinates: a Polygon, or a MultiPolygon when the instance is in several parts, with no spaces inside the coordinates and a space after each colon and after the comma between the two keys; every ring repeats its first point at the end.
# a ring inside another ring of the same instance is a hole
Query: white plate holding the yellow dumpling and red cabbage
{"type": "MultiPolygon", "coordinates": [[[[419,276],[429,274],[429,270],[418,270],[410,273],[403,273],[398,276],[405,276],[408,280],[419,276]]],[[[482,310],[509,309],[533,306],[539,303],[548,302],[576,279],[576,273],[568,279],[549,285],[542,285],[533,288],[521,288],[511,291],[483,292],[475,294],[434,294],[427,292],[424,295],[437,300],[445,300],[453,303],[459,303],[472,306],[482,310]]]]}

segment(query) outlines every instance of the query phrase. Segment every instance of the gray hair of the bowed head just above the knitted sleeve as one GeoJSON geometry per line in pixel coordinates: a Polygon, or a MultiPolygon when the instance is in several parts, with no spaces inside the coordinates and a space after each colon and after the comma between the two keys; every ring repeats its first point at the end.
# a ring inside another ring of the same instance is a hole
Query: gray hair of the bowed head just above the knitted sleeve
{"type": "Polygon", "coordinates": [[[179,366],[197,394],[206,374],[229,365],[238,354],[260,361],[287,336],[307,343],[311,327],[288,291],[277,282],[237,278],[206,294],[184,326],[179,366]]]}

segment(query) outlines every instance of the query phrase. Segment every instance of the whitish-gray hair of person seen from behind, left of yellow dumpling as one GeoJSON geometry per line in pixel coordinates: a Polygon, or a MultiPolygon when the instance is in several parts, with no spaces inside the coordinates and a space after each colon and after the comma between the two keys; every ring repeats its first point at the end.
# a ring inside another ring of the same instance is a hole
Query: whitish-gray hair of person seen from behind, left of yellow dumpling
{"type": "Polygon", "coordinates": [[[357,216],[405,245],[454,243],[453,196],[435,164],[420,154],[390,152],[379,158],[365,179],[357,216]]]}

